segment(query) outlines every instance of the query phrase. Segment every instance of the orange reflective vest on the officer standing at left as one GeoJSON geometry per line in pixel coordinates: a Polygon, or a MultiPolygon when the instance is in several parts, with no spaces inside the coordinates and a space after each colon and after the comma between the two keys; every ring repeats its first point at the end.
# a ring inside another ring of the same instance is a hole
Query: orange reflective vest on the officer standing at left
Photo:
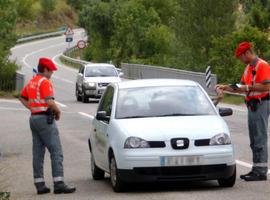
{"type": "Polygon", "coordinates": [[[28,105],[31,113],[45,112],[48,110],[48,104],[45,97],[40,94],[40,85],[47,80],[45,77],[37,75],[26,86],[28,93],[28,105]]]}

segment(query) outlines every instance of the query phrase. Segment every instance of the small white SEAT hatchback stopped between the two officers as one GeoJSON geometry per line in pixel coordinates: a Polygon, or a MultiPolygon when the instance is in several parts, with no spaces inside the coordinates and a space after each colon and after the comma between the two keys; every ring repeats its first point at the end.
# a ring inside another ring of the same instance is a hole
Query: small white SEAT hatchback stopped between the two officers
{"type": "Polygon", "coordinates": [[[89,138],[93,179],[107,172],[116,192],[130,182],[218,180],[235,184],[229,129],[202,87],[174,79],[111,84],[89,138]]]}

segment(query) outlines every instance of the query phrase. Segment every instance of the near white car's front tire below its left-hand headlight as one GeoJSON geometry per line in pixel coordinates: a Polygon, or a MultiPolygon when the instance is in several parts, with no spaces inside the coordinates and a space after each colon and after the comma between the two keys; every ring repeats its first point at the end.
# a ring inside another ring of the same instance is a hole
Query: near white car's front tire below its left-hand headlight
{"type": "Polygon", "coordinates": [[[114,192],[124,191],[125,185],[119,177],[119,171],[114,156],[110,158],[110,181],[114,192]]]}

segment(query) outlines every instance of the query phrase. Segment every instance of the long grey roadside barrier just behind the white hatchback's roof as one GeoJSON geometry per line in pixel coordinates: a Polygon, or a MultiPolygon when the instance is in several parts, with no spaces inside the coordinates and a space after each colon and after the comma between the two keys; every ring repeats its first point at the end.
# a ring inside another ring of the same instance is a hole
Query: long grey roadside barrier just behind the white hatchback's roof
{"type": "Polygon", "coordinates": [[[211,87],[206,87],[205,74],[200,72],[191,72],[173,68],[165,68],[160,66],[127,64],[121,65],[125,78],[129,79],[147,79],[147,78],[173,78],[187,79],[198,82],[208,94],[214,95],[214,86],[217,84],[217,76],[212,74],[211,87]]]}

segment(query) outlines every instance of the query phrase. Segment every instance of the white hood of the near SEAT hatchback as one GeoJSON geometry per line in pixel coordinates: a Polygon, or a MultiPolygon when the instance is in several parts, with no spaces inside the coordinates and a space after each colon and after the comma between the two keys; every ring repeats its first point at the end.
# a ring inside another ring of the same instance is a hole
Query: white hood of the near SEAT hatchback
{"type": "Polygon", "coordinates": [[[219,133],[229,134],[219,115],[118,119],[116,125],[126,135],[148,141],[169,141],[172,138],[207,139],[219,133]]]}

